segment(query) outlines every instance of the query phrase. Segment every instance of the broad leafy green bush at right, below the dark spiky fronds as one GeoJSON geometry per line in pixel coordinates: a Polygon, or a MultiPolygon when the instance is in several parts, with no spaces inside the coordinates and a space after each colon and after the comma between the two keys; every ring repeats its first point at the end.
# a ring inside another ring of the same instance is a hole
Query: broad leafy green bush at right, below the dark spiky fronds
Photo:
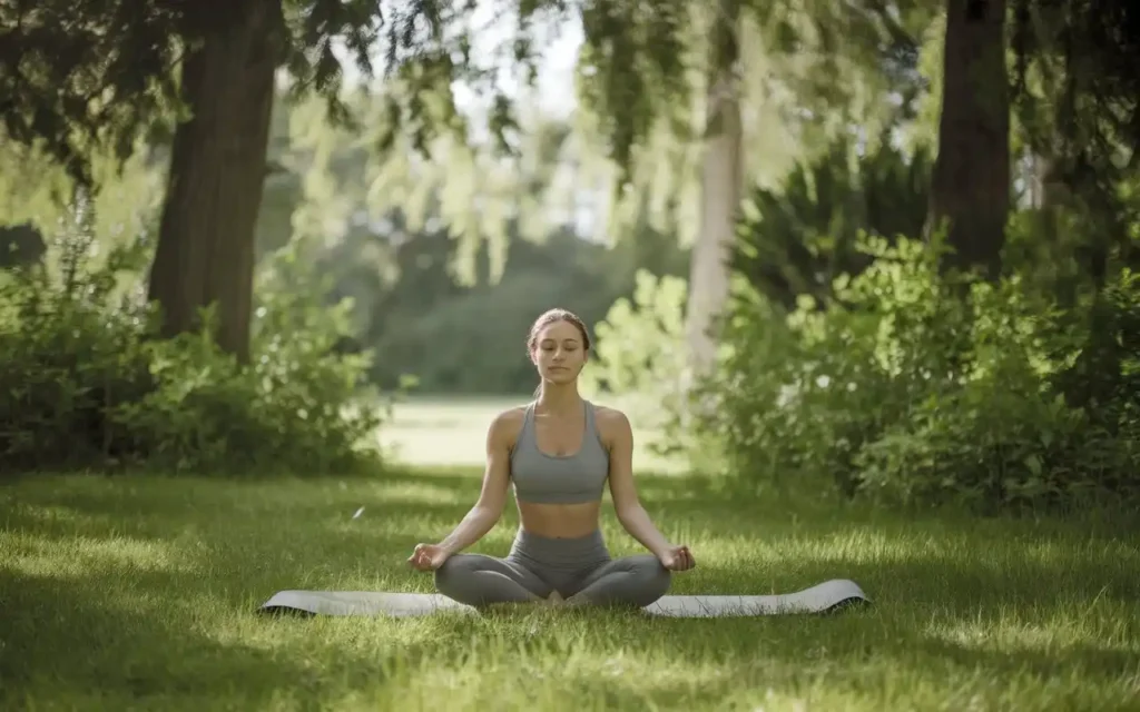
{"type": "Polygon", "coordinates": [[[988,510],[1140,494],[1133,275],[1060,310],[1017,277],[942,275],[930,245],[861,249],[873,264],[828,304],[734,308],[699,427],[739,483],[988,510]]]}

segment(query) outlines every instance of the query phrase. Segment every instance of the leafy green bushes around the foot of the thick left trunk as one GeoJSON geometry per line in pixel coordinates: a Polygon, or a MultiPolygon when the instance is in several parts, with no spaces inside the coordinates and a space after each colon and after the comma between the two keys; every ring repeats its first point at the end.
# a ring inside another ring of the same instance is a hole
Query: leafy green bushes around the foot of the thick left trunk
{"type": "Polygon", "coordinates": [[[375,465],[367,359],[340,355],[348,305],[329,310],[291,246],[259,288],[252,358],[206,328],[157,337],[145,240],[99,264],[90,218],[52,245],[58,269],[0,277],[0,472],[152,467],[319,474],[375,465]]]}

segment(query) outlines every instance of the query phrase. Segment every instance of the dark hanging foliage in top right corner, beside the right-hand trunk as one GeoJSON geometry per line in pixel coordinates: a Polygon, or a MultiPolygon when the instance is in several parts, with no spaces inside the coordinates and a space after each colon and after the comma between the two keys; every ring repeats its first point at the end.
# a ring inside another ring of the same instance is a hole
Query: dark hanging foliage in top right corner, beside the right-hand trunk
{"type": "Polygon", "coordinates": [[[1115,254],[1140,267],[1140,6],[1131,0],[1013,0],[1016,136],[1032,166],[1034,247],[1077,281],[1104,286],[1115,254]]]}

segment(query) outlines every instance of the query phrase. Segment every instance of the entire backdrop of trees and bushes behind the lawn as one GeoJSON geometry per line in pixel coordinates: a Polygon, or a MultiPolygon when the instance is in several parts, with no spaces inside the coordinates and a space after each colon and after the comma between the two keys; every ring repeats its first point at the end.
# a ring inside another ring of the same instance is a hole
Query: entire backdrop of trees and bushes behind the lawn
{"type": "Polygon", "coordinates": [[[494,3],[518,21],[515,68],[534,68],[540,21],[580,24],[572,121],[499,91],[472,7],[396,5],[0,10],[0,158],[44,167],[0,202],[21,248],[5,264],[23,265],[3,283],[8,461],[349,467],[377,423],[365,386],[528,392],[523,334],[560,305],[596,326],[588,388],[751,490],[824,476],[987,509],[1137,494],[1127,3],[494,3]],[[383,91],[342,91],[334,39],[383,91]],[[726,58],[763,155],[730,216],[718,368],[693,383],[685,238],[728,224],[693,198],[698,167],[731,167],[701,164],[698,140],[726,58]],[[458,77],[489,91],[472,116],[458,77]],[[85,182],[129,207],[38,244],[50,211],[28,206],[85,182]],[[583,239],[587,197],[605,239],[583,239]]]}

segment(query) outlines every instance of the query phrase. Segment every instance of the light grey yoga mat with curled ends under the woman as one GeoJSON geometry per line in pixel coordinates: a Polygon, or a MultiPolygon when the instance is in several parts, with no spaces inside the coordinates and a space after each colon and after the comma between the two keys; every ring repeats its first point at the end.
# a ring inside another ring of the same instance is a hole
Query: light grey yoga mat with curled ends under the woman
{"type": "MultiPolygon", "coordinates": [[[[774,596],[663,596],[644,611],[650,615],[670,617],[744,617],[826,613],[847,604],[869,600],[854,581],[834,579],[795,594],[774,596]]],[[[278,591],[261,604],[260,609],[393,617],[430,615],[441,611],[477,613],[475,608],[440,594],[382,591],[278,591]]]]}

